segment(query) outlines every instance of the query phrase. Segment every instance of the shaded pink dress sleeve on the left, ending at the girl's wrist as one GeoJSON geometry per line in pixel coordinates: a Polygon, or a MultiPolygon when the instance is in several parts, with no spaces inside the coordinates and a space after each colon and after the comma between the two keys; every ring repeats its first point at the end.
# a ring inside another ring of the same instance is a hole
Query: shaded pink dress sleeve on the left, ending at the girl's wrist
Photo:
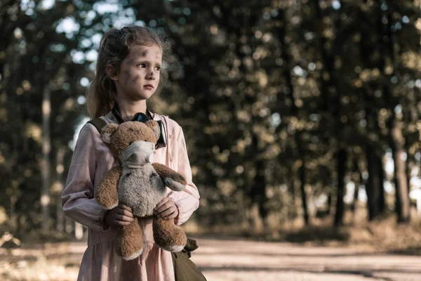
{"type": "Polygon", "coordinates": [[[93,230],[105,231],[103,219],[107,209],[94,199],[97,152],[93,136],[95,128],[86,124],[79,133],[69,174],[62,192],[62,207],[66,216],[93,230]]]}

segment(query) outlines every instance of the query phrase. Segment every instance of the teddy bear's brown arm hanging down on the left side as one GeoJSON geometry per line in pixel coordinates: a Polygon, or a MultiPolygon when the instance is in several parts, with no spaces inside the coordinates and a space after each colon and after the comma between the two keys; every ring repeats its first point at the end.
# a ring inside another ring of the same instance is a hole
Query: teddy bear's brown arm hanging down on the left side
{"type": "Polygon", "coordinates": [[[108,210],[113,209],[119,204],[117,184],[119,183],[120,176],[121,166],[114,166],[109,170],[108,174],[102,178],[95,190],[95,200],[108,210]]]}

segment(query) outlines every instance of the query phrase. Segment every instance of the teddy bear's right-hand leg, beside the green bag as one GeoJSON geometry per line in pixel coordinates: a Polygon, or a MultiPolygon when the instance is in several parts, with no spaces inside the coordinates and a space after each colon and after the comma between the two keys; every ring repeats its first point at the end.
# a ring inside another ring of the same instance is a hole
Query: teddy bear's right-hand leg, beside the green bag
{"type": "Polygon", "coordinates": [[[175,226],[174,220],[168,221],[163,218],[154,218],[152,223],[155,243],[166,251],[181,251],[187,244],[185,232],[175,226]]]}

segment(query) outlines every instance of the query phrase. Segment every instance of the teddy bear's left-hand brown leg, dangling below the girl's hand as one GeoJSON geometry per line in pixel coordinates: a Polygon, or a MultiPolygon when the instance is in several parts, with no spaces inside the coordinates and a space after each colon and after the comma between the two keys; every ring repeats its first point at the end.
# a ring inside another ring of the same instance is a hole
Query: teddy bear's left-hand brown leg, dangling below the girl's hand
{"type": "Polygon", "coordinates": [[[143,251],[142,228],[140,228],[138,218],[128,226],[123,226],[117,237],[117,254],[126,261],[136,259],[143,251]]]}

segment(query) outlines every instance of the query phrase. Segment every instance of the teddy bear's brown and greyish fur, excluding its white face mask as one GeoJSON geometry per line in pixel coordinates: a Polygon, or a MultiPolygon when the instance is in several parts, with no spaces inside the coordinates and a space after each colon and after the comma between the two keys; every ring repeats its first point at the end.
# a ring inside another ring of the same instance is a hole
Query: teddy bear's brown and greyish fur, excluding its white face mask
{"type": "MultiPolygon", "coordinates": [[[[107,124],[104,126],[101,131],[101,138],[107,143],[113,155],[119,157],[121,152],[133,141],[148,141],[156,144],[156,141],[159,139],[159,133],[159,125],[153,120],[147,121],[145,124],[141,122],[124,122],[120,125],[107,124]]],[[[112,209],[119,204],[119,195],[121,198],[128,196],[130,199],[135,199],[135,202],[133,202],[134,205],[140,204],[138,206],[131,206],[132,209],[134,207],[133,212],[138,211],[138,214],[143,214],[140,213],[140,209],[143,207],[150,207],[152,215],[152,209],[155,207],[152,205],[159,202],[159,200],[165,196],[164,190],[166,189],[166,186],[172,190],[180,191],[184,190],[186,184],[187,181],[183,176],[163,164],[154,163],[152,165],[149,164],[149,166],[145,164],[142,168],[133,170],[127,168],[122,169],[121,166],[116,166],[109,171],[100,182],[100,185],[98,185],[98,188],[95,191],[95,199],[107,209],[112,209]],[[149,171],[149,176],[156,176],[156,174],[159,174],[162,181],[157,177],[149,179],[144,178],[148,175],[147,171],[149,171]],[[123,178],[121,178],[122,175],[123,178]],[[140,178],[136,178],[138,175],[140,175],[140,178]],[[128,181],[124,181],[124,179],[128,181]],[[152,181],[152,179],[154,179],[154,181],[152,181]],[[145,183],[148,184],[140,184],[142,181],[145,181],[145,183]],[[129,184],[125,185],[126,183],[129,184]],[[132,187],[133,183],[136,186],[132,187]],[[150,183],[154,183],[154,185],[151,185],[150,183]],[[117,190],[118,185],[120,188],[119,190],[117,190]],[[145,188],[145,190],[139,190],[139,188],[145,188]],[[153,190],[149,190],[148,192],[148,188],[153,188],[153,190]],[[119,192],[123,191],[125,192],[124,194],[119,194],[119,192]],[[141,193],[136,193],[139,191],[141,191],[141,193]],[[133,197],[131,196],[131,192],[138,195],[133,197]],[[140,199],[143,195],[147,195],[151,198],[145,197],[140,199]],[[149,199],[152,199],[152,201],[148,201],[149,199]],[[136,202],[136,200],[141,201],[136,202]],[[145,205],[145,202],[154,203],[145,205]]],[[[125,200],[121,200],[121,203],[126,204],[126,202],[123,202],[125,200]]],[[[147,212],[145,212],[145,215],[148,216],[147,212]]],[[[187,237],[181,228],[175,226],[174,220],[165,221],[162,218],[154,218],[152,228],[154,231],[154,240],[162,249],[168,251],[181,251],[182,248],[185,247],[187,237]]],[[[133,221],[133,223],[121,228],[119,236],[117,237],[117,251],[123,259],[130,260],[135,259],[142,253],[142,247],[142,229],[139,226],[138,217],[135,216],[135,221],[133,221]]]]}

